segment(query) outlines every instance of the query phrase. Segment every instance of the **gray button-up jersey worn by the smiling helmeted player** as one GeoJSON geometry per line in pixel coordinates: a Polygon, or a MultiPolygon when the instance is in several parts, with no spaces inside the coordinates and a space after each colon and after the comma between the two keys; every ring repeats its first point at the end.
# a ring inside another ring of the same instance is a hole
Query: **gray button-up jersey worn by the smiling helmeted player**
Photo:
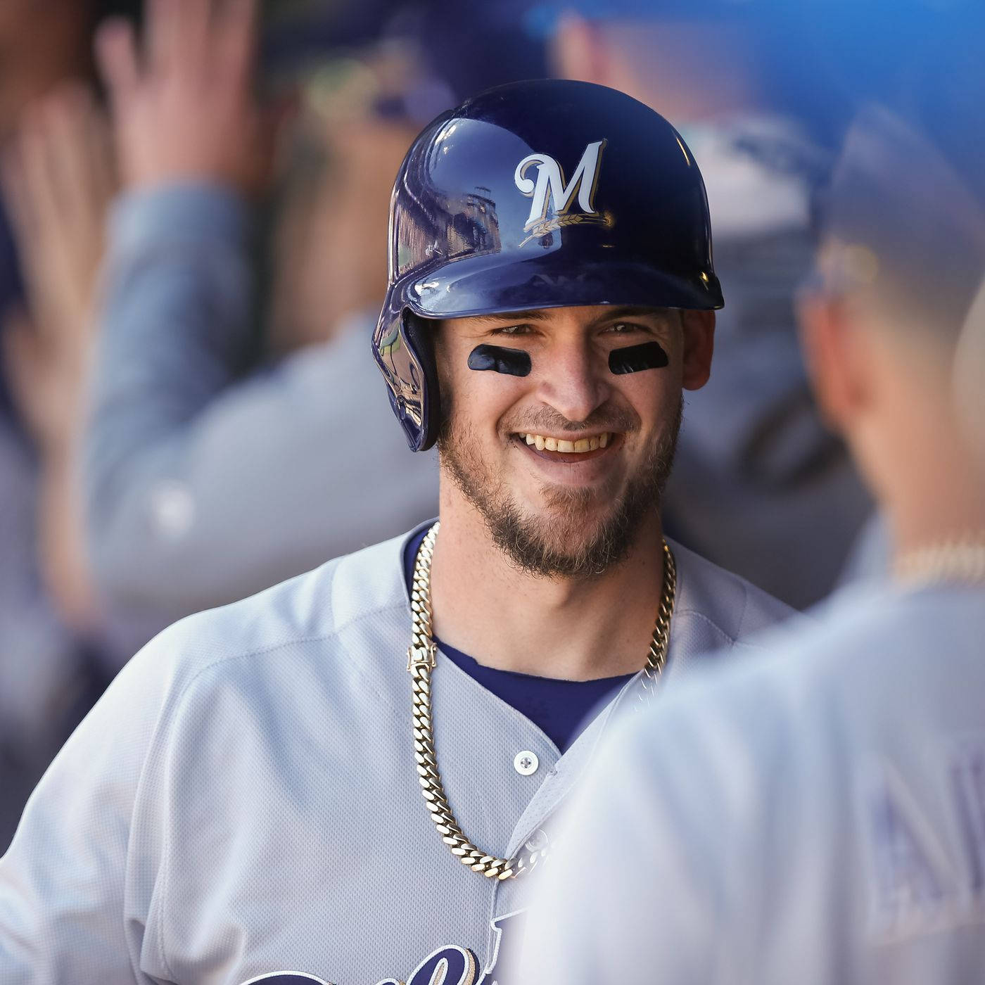
{"type": "MultiPolygon", "coordinates": [[[[523,880],[465,868],[427,814],[405,541],[191,616],[124,668],[0,861],[4,985],[422,985],[439,967],[447,985],[493,981],[523,880]]],[[[789,613],[675,553],[669,683],[709,649],[755,650],[749,635],[789,613]]],[[[501,856],[550,839],[600,735],[640,705],[630,682],[559,755],[440,655],[432,687],[448,800],[501,856]]]]}

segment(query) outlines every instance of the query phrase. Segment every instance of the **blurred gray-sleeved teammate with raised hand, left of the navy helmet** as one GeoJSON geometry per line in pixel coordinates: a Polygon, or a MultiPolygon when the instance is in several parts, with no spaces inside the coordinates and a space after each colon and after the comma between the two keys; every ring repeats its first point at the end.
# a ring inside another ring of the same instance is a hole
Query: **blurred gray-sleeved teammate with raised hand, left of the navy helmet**
{"type": "Polygon", "coordinates": [[[269,141],[255,25],[248,5],[211,7],[156,5],[146,58],[119,25],[99,48],[125,193],[108,233],[88,540],[106,597],[159,625],[404,529],[437,494],[364,358],[388,188],[417,129],[372,106],[400,90],[361,65],[329,93],[327,119],[305,115],[332,158],[306,215],[289,200],[277,241],[268,341],[289,355],[257,366],[249,197],[269,141]]]}

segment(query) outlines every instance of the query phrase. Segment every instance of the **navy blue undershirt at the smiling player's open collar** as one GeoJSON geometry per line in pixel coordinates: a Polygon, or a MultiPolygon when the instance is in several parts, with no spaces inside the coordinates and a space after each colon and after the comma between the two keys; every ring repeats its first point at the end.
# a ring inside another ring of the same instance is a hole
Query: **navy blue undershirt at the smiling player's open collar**
{"type": "MultiPolygon", "coordinates": [[[[404,547],[404,577],[408,590],[414,579],[414,561],[426,535],[427,527],[415,534],[404,547]]],[[[555,678],[534,677],[532,674],[484,667],[468,654],[442,643],[437,636],[434,642],[460,670],[529,718],[562,753],[591,722],[589,712],[612,698],[633,676],[623,674],[597,681],[558,681],[555,678]]]]}

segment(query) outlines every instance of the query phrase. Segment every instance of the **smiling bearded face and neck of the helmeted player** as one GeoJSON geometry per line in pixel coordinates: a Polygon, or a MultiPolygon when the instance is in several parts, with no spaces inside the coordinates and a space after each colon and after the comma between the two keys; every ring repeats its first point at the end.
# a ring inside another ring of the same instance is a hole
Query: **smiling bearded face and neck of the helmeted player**
{"type": "MultiPolygon", "coordinates": [[[[539,678],[640,669],[673,564],[657,504],[682,381],[707,378],[712,319],[606,304],[435,325],[445,533],[432,578],[442,642],[485,667],[539,678]],[[492,371],[476,371],[480,363],[492,371]]],[[[544,688],[533,685],[552,723],[572,727],[603,693],[555,698],[544,688]]],[[[560,749],[570,742],[552,738],[560,749]]]]}

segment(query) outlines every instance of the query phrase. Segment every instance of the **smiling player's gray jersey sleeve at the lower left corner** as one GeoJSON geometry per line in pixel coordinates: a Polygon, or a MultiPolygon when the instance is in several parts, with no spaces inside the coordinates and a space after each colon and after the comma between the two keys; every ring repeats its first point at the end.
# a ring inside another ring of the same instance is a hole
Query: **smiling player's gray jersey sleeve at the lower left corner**
{"type": "Polygon", "coordinates": [[[154,825],[136,841],[132,830],[164,717],[165,657],[124,668],[55,757],[0,858],[4,985],[150,980],[136,968],[161,840],[154,825]],[[129,892],[128,872],[139,883],[129,892]]]}

